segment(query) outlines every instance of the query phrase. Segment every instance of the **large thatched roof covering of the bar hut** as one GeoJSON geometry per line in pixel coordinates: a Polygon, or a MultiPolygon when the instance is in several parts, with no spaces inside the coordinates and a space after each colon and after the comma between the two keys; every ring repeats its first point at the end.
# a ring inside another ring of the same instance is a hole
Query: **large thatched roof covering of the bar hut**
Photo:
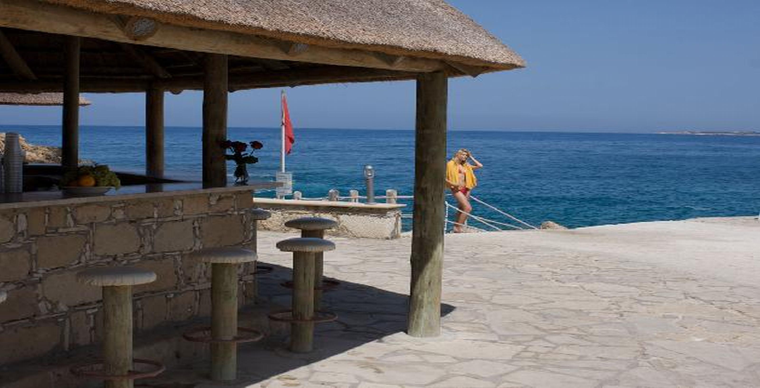
{"type": "Polygon", "coordinates": [[[524,61],[443,0],[43,0],[166,24],[317,46],[519,68],[524,61]]]}

